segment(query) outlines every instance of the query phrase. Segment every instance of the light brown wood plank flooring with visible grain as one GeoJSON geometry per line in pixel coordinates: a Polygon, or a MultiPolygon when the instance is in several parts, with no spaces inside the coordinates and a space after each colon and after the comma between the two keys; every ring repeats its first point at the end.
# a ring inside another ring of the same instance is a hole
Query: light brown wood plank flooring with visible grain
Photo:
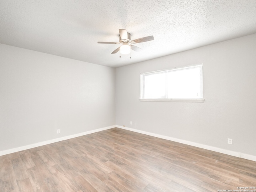
{"type": "Polygon", "coordinates": [[[0,156],[0,192],[216,192],[251,186],[254,161],[119,128],[0,156]]]}

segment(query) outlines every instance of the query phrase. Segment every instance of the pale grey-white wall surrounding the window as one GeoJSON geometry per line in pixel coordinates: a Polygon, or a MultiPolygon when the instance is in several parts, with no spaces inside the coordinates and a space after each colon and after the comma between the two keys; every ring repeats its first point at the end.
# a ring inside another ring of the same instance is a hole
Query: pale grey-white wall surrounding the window
{"type": "Polygon", "coordinates": [[[116,125],[256,156],[256,34],[116,68],[116,125]],[[139,101],[140,73],[200,63],[204,103],[139,101]]]}

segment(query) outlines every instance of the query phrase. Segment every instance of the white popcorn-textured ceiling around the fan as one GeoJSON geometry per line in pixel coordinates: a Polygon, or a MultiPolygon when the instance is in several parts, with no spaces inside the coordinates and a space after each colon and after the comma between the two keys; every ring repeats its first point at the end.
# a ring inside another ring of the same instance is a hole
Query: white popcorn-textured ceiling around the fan
{"type": "Polygon", "coordinates": [[[0,0],[0,43],[110,67],[256,33],[256,0],[0,0]],[[118,29],[141,52],[111,54],[118,29]]]}

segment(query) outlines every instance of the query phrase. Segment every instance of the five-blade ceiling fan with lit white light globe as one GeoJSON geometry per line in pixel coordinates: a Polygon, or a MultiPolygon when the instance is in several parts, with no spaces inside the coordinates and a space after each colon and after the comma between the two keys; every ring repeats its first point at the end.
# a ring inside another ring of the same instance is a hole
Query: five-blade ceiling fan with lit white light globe
{"type": "MultiPolygon", "coordinates": [[[[131,52],[131,49],[139,52],[142,49],[134,46],[135,43],[142,43],[146,41],[152,41],[154,40],[153,36],[147,36],[147,37],[142,37],[138,39],[131,40],[131,34],[128,33],[125,29],[119,29],[119,43],[116,42],[101,42],[99,41],[98,43],[102,44],[122,44],[120,47],[118,47],[116,50],[114,50],[111,54],[117,53],[120,51],[121,54],[129,54],[131,52]]],[[[121,57],[121,56],[120,56],[121,57]]]]}

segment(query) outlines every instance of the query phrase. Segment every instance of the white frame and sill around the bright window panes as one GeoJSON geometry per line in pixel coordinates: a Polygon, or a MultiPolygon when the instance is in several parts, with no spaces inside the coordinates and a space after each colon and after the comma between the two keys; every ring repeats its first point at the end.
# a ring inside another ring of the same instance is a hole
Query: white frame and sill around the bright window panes
{"type": "MultiPolygon", "coordinates": [[[[172,68],[172,69],[168,69],[168,70],[158,70],[158,71],[146,72],[146,73],[140,74],[140,101],[204,102],[204,98],[181,98],[181,99],[179,99],[179,98],[143,98],[143,94],[144,94],[144,75],[145,74],[158,74],[158,73],[161,73],[161,72],[169,72],[169,71],[174,71],[174,70],[184,70],[184,69],[195,68],[195,67],[202,67],[202,64],[192,65],[192,66],[185,66],[185,67],[180,67],[180,68],[172,68]]],[[[201,76],[201,78],[203,78],[203,77],[201,76]]],[[[203,84],[202,84],[202,91],[203,91],[203,84]]],[[[203,93],[202,93],[202,96],[203,96],[203,93]]]]}

